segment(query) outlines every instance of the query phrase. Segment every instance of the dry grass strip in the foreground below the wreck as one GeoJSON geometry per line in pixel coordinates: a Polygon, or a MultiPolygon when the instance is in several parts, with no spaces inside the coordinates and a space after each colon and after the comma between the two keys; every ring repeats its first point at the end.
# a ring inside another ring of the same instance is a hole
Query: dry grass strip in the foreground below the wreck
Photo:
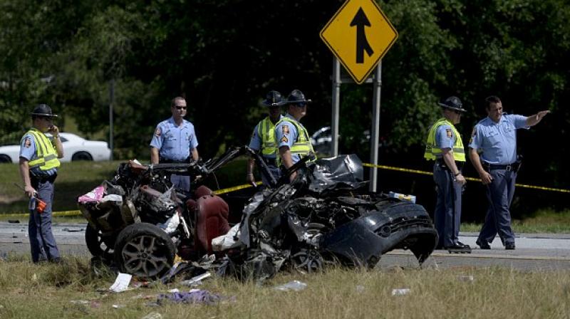
{"type": "Polygon", "coordinates": [[[153,312],[162,318],[567,318],[569,275],[510,268],[333,268],[311,275],[279,274],[263,286],[214,277],[199,288],[234,301],[150,307],[147,303],[159,293],[189,288],[171,283],[124,293],[98,292],[113,283],[114,275],[93,275],[86,258],[36,266],[26,258],[11,257],[0,261],[0,318],[142,318],[153,312]],[[465,276],[473,281],[463,281],[465,276]],[[293,280],[307,288],[272,288],[293,280]],[[396,288],[409,288],[410,293],[392,296],[396,288]]]}

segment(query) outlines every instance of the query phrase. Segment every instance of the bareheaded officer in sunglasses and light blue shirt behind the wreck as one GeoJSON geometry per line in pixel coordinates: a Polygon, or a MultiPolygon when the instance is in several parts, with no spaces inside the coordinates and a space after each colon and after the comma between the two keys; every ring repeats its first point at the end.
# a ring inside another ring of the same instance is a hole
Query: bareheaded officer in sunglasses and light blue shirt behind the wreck
{"type": "MultiPolygon", "coordinates": [[[[155,135],[150,141],[150,162],[187,163],[198,160],[198,140],[194,125],[184,119],[186,115],[186,100],[181,97],[172,99],[170,105],[172,117],[158,123],[155,135]]],[[[170,182],[177,189],[190,192],[190,177],[172,174],[170,182]]]]}

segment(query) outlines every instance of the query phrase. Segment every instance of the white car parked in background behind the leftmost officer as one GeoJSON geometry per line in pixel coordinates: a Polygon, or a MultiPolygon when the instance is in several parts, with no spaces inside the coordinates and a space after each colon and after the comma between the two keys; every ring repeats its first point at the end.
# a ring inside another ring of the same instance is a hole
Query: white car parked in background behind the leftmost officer
{"type": "MultiPolygon", "coordinates": [[[[48,134],[48,137],[51,137],[48,134]]],[[[70,161],[107,161],[110,158],[107,142],[90,141],[71,133],[59,133],[63,144],[61,162],[70,161]]],[[[18,163],[20,161],[20,145],[0,147],[0,163],[18,163]]]]}

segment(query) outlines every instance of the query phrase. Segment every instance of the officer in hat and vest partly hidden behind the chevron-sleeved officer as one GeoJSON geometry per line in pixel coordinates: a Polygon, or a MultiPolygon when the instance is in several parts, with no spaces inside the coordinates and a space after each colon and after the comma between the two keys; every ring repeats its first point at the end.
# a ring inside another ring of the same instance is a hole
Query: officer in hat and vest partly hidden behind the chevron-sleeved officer
{"type": "MultiPolygon", "coordinates": [[[[261,104],[269,108],[269,115],[257,123],[252,134],[252,140],[249,142],[249,148],[254,151],[261,151],[261,158],[267,164],[269,171],[275,179],[279,179],[281,177],[281,169],[276,164],[275,124],[283,117],[281,115],[281,105],[284,105],[285,102],[281,93],[269,91],[261,104]]],[[[255,185],[253,169],[254,159],[250,159],[247,164],[246,180],[249,184],[255,185]]],[[[269,186],[269,181],[263,174],[261,174],[261,180],[265,186],[269,186]]]]}

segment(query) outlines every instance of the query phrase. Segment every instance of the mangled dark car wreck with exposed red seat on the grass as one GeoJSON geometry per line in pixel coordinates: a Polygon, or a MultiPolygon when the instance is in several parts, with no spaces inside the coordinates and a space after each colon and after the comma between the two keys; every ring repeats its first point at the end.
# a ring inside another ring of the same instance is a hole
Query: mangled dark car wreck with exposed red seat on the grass
{"type": "Polygon", "coordinates": [[[393,249],[409,249],[423,263],[437,243],[423,206],[368,192],[356,155],[298,162],[279,181],[249,147],[207,162],[129,162],[78,202],[90,225],[89,251],[146,278],[168,271],[175,254],[186,260],[214,254],[224,273],[260,278],[284,266],[304,272],[329,264],[373,267],[393,249]],[[206,177],[243,154],[256,159],[272,187],[241,205],[230,207],[204,186],[180,194],[170,184],[170,174],[206,177]],[[236,211],[241,221],[230,227],[228,216],[236,211]]]}

